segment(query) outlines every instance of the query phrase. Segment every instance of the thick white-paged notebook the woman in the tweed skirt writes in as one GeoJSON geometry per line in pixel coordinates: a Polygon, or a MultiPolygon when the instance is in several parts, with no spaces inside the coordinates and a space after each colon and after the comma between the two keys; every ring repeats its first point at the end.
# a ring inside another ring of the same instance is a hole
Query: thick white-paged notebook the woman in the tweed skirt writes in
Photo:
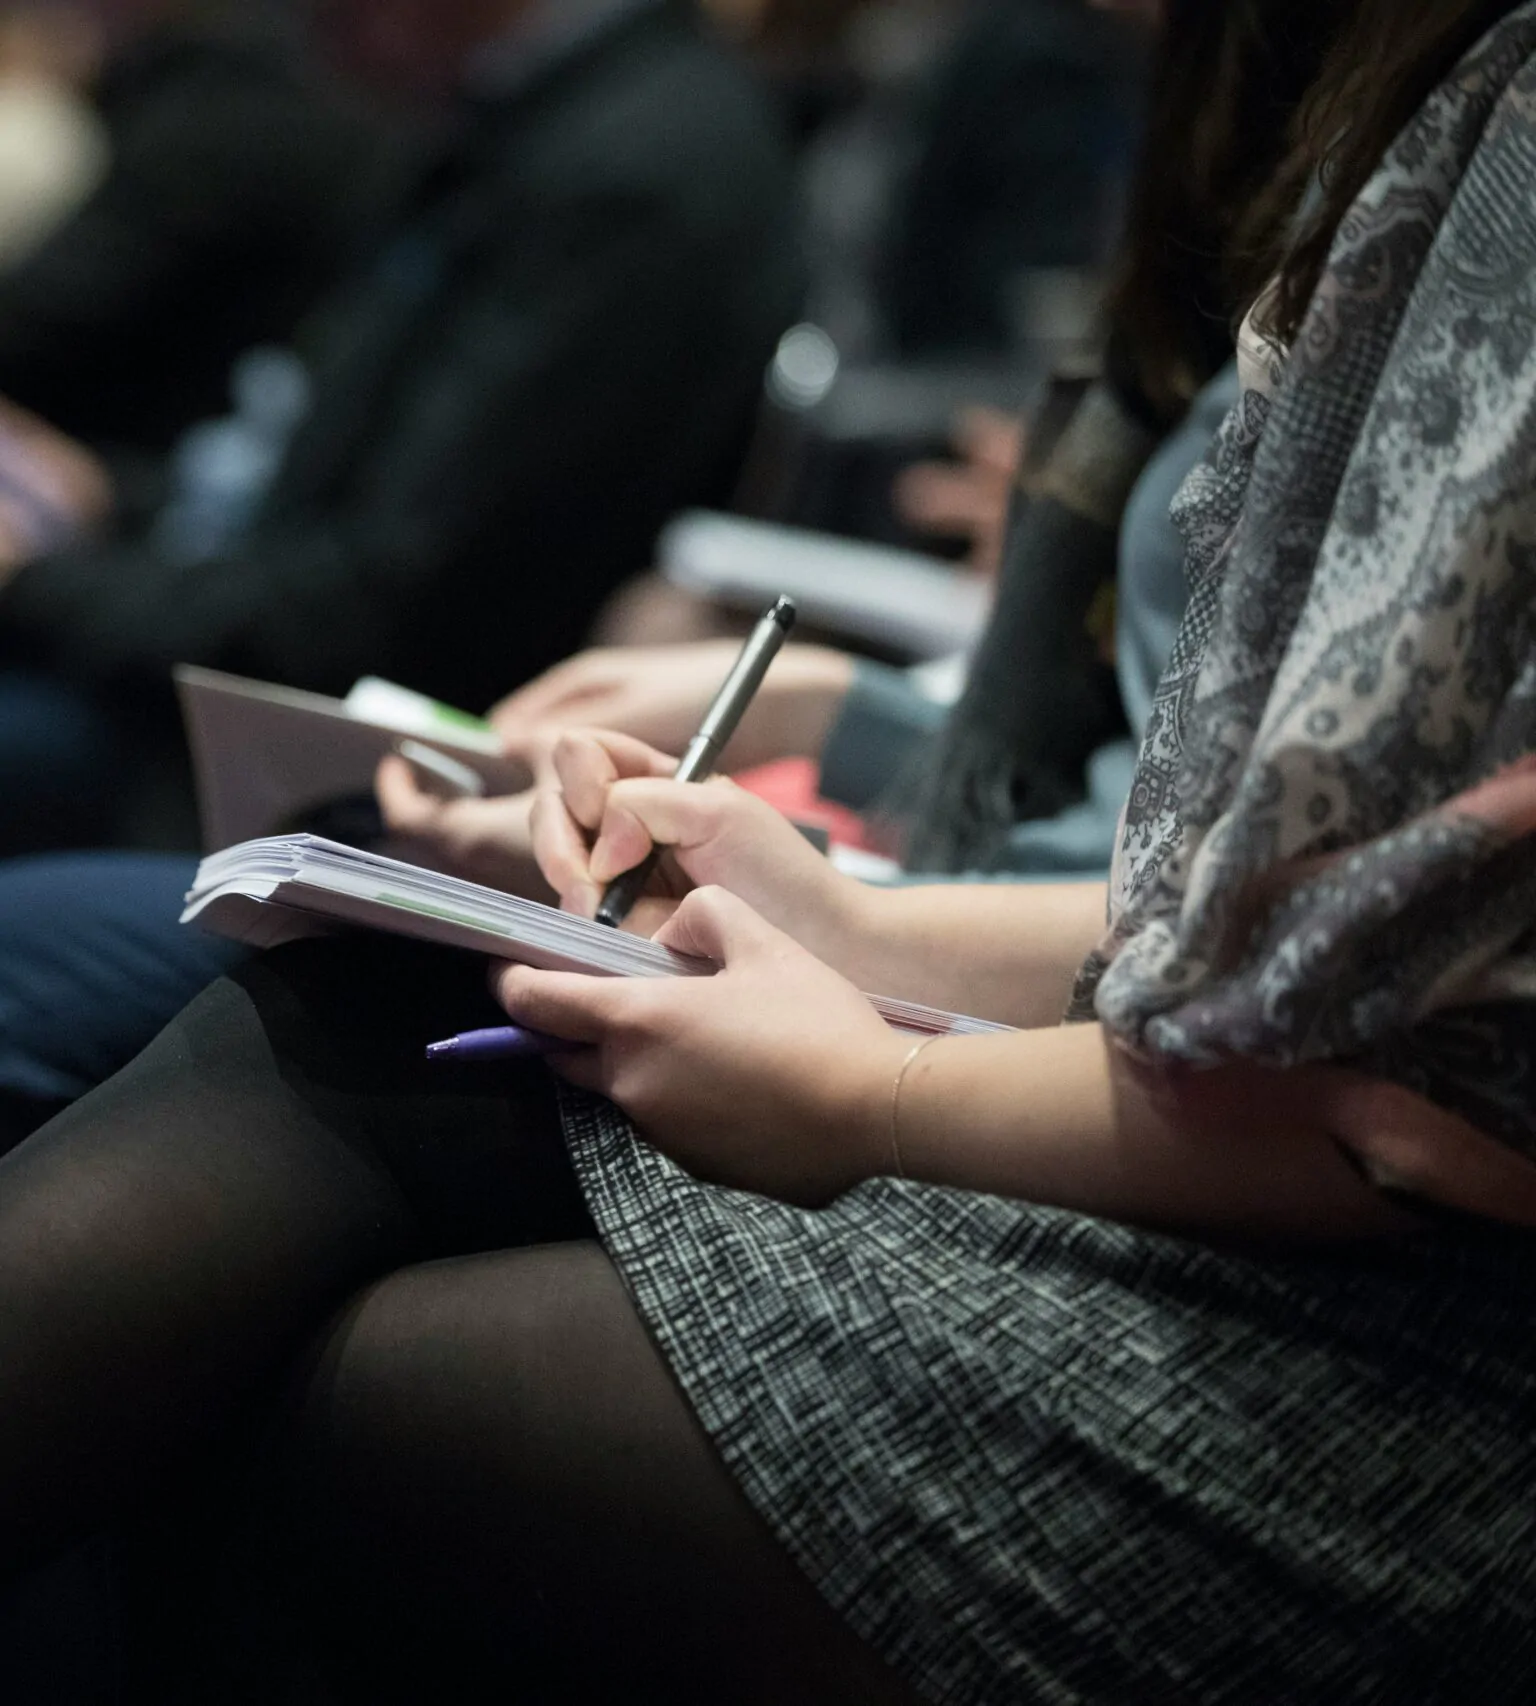
{"type": "MultiPolygon", "coordinates": [[[[210,855],[198,867],[181,921],[253,947],[278,947],[338,925],[362,925],[543,971],[698,978],[715,969],[708,960],[684,959],[643,937],[608,930],[553,906],[319,836],[270,836],[210,855]]],[[[1007,1029],[908,1001],[882,996],[870,1001],[887,1024],[913,1036],[1007,1029]]]]}

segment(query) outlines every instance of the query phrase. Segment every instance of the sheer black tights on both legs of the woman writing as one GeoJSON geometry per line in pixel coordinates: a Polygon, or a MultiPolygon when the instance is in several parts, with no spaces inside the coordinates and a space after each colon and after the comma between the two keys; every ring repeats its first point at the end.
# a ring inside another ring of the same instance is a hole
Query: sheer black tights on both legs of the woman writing
{"type": "Polygon", "coordinates": [[[0,1580],[237,1462],[367,1699],[910,1699],[695,1421],[548,1075],[423,1065],[490,1017],[454,955],[282,950],[0,1162],[0,1580]]]}

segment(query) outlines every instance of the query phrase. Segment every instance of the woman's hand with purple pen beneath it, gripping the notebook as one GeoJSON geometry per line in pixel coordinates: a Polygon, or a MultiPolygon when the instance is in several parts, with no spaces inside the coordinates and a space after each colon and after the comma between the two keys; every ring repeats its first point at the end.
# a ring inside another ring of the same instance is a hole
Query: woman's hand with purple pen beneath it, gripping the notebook
{"type": "Polygon", "coordinates": [[[835,971],[724,889],[657,942],[712,978],[580,978],[502,966],[519,1025],[577,1047],[551,1065],[616,1102],[700,1179],[816,1206],[889,1167],[899,1037],[835,971]]]}

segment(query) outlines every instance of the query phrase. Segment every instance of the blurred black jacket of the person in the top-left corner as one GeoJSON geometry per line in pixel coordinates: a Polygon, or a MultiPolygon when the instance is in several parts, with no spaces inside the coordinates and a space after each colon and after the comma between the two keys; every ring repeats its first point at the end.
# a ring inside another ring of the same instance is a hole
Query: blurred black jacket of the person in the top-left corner
{"type": "Polygon", "coordinates": [[[148,38],[99,104],[106,181],[0,275],[0,392],[97,449],[157,454],[377,235],[387,133],[239,7],[148,38]]]}

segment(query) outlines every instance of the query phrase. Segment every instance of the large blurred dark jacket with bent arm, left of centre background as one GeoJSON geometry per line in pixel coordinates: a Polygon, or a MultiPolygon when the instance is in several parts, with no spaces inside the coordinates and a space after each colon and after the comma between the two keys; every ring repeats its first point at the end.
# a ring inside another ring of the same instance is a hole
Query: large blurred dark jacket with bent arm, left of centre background
{"type": "Polygon", "coordinates": [[[719,498],[795,307],[792,184],[749,73],[642,9],[473,104],[341,295],[314,411],[239,549],[87,549],[0,594],[0,655],[109,691],[181,660],[486,705],[580,643],[719,498]]]}

